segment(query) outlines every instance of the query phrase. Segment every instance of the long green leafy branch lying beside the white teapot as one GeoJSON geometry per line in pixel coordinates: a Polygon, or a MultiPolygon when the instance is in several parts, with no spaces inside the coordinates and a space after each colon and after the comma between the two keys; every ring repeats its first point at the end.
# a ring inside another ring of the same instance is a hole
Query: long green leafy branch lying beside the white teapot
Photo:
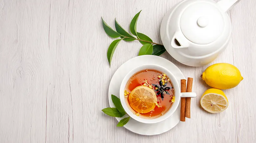
{"type": "MultiPolygon", "coordinates": [[[[140,10],[140,12],[141,12],[141,10],[140,10]]],[[[136,37],[130,35],[126,30],[124,30],[122,28],[122,26],[116,21],[116,19],[115,19],[115,27],[116,27],[116,31],[115,31],[109,25],[107,25],[107,23],[102,18],[103,29],[105,30],[106,34],[112,38],[118,38],[118,37],[121,38],[121,39],[114,40],[109,45],[108,52],[107,52],[109,65],[111,63],[111,60],[112,60],[112,57],[116,50],[117,45],[122,40],[124,40],[124,41],[137,40],[137,41],[139,41],[143,45],[140,48],[139,56],[140,55],[160,56],[161,54],[163,54],[166,51],[164,45],[155,43],[147,35],[137,32],[137,21],[138,21],[140,12],[134,16],[134,18],[132,19],[132,21],[130,23],[130,32],[136,37]]]]}

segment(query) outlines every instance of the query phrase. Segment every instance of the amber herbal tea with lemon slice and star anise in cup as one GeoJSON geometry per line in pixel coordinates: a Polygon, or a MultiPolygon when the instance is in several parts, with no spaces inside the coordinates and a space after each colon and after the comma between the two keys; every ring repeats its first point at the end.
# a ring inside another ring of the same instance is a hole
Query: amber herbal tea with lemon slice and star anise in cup
{"type": "Polygon", "coordinates": [[[142,118],[163,115],[175,101],[170,79],[162,72],[152,69],[134,74],[126,84],[124,96],[130,110],[142,118]]]}

